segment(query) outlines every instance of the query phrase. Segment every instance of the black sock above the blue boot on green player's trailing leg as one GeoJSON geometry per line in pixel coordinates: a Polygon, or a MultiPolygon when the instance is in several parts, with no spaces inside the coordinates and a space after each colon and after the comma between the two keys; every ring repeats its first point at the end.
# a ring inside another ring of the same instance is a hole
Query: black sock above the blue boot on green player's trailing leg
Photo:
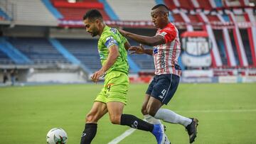
{"type": "Polygon", "coordinates": [[[142,131],[153,131],[154,125],[147,123],[142,119],[137,118],[136,116],[130,114],[122,114],[121,116],[121,125],[129,126],[131,128],[137,128],[142,131]]]}

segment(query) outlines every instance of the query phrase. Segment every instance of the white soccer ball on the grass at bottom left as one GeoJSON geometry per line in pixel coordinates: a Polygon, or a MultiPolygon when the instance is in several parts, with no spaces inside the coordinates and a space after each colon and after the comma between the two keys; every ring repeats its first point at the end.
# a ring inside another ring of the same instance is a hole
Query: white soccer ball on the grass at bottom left
{"type": "Polygon", "coordinates": [[[53,128],[46,135],[48,144],[65,144],[68,142],[68,135],[62,128],[53,128]]]}

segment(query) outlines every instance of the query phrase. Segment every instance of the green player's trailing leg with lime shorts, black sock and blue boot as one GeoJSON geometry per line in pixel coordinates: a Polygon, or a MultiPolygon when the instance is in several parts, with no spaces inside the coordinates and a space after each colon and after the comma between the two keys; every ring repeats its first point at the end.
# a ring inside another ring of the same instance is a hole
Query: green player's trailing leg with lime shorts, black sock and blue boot
{"type": "Polygon", "coordinates": [[[150,131],[156,137],[158,144],[163,144],[164,130],[160,125],[147,123],[136,116],[123,114],[124,105],[127,104],[127,90],[129,77],[122,72],[112,72],[106,77],[107,81],[107,110],[110,120],[114,124],[129,126],[143,131],[150,131]]]}

